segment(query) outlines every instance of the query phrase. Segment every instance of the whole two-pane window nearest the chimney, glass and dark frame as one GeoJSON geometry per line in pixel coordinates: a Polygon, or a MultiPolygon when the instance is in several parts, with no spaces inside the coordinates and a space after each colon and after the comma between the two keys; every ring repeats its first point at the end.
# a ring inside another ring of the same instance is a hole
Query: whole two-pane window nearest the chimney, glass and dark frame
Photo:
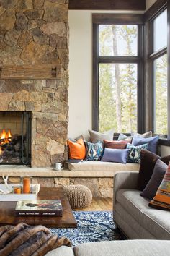
{"type": "Polygon", "coordinates": [[[103,15],[95,24],[96,15],[93,128],[100,132],[142,132],[142,24],[130,24],[129,20],[126,24],[123,15],[121,22],[117,21],[115,14],[109,24],[105,24],[103,15]]]}

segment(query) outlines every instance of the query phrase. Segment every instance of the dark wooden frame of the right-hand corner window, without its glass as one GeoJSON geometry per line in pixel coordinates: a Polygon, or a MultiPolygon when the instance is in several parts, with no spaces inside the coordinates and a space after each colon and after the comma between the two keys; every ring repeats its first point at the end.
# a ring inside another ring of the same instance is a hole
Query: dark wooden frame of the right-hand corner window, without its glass
{"type": "MultiPolygon", "coordinates": [[[[167,111],[170,109],[170,2],[166,0],[157,0],[153,6],[148,9],[144,14],[145,20],[145,106],[146,106],[146,127],[145,130],[154,129],[154,80],[153,80],[153,61],[158,57],[167,54],[168,58],[168,76],[167,76],[167,111]],[[159,51],[153,53],[153,20],[158,17],[161,12],[167,9],[167,47],[161,48],[159,51]],[[151,36],[152,35],[152,36],[151,36]]],[[[161,135],[159,139],[159,145],[170,146],[170,111],[168,111],[168,134],[161,135]]]]}

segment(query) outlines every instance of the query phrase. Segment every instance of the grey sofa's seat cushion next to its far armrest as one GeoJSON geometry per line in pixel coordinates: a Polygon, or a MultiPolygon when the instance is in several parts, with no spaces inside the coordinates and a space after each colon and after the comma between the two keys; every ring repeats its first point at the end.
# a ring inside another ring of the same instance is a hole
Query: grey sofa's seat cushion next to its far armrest
{"type": "Polygon", "coordinates": [[[120,202],[123,208],[125,208],[136,221],[140,221],[141,210],[150,208],[148,206],[150,200],[140,197],[140,191],[137,189],[119,189],[116,200],[120,202]]]}

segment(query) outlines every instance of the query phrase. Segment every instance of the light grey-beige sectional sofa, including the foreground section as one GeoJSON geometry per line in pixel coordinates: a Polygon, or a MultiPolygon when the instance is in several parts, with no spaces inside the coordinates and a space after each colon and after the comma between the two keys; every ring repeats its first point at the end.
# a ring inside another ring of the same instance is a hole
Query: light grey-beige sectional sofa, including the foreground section
{"type": "Polygon", "coordinates": [[[153,209],[140,197],[138,172],[118,172],[114,180],[114,219],[132,240],[62,246],[47,256],[170,256],[169,211],[153,209]]]}

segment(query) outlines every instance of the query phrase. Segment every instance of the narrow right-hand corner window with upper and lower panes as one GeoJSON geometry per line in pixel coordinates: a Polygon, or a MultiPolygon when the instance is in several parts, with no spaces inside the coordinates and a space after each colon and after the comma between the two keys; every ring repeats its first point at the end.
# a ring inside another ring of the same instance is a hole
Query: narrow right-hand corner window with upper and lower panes
{"type": "Polygon", "coordinates": [[[167,10],[150,22],[151,65],[153,67],[153,132],[168,134],[167,117],[167,10]]]}

